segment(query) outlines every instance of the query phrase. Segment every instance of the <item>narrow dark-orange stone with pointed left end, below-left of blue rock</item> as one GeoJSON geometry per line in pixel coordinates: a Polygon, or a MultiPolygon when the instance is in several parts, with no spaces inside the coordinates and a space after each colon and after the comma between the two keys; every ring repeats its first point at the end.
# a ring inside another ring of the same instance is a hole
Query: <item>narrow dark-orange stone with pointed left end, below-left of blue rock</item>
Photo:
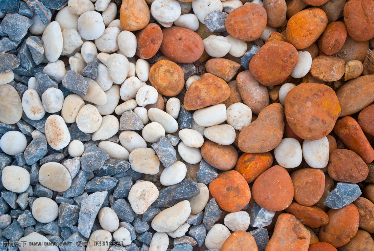
{"type": "Polygon", "coordinates": [[[316,206],[303,206],[297,202],[292,202],[286,212],[294,215],[304,225],[317,228],[328,223],[328,216],[321,208],[316,206]]]}

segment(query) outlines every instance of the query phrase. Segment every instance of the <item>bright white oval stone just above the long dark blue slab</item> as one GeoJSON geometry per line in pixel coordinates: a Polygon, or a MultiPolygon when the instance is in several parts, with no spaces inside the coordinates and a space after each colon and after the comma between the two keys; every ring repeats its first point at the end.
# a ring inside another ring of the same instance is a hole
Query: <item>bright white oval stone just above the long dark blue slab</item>
{"type": "Polygon", "coordinates": [[[183,162],[176,161],[166,167],[160,176],[160,183],[163,186],[171,186],[180,183],[187,174],[187,167],[183,162]]]}

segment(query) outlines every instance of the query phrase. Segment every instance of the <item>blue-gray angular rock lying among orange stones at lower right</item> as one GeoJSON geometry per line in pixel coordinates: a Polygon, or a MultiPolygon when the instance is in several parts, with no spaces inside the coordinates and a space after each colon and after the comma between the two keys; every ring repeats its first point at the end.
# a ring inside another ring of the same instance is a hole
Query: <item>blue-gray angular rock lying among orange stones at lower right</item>
{"type": "Polygon", "coordinates": [[[329,208],[340,209],[355,201],[361,195],[358,184],[338,182],[336,188],[326,197],[324,204],[329,208]]]}

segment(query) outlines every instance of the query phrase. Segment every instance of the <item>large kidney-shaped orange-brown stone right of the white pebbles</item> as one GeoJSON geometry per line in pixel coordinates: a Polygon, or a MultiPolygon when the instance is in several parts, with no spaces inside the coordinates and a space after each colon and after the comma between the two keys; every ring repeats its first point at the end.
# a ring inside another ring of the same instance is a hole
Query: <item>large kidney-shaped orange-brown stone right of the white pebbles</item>
{"type": "Polygon", "coordinates": [[[245,153],[266,153],[281,143],[283,137],[283,106],[265,107],[257,119],[240,131],[238,146],[245,153]]]}

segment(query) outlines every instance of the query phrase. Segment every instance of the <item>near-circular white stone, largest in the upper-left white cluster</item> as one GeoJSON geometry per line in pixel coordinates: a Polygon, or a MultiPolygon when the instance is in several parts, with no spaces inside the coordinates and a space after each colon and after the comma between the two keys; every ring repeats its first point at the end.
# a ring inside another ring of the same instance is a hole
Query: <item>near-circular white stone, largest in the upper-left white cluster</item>
{"type": "Polygon", "coordinates": [[[99,12],[87,11],[78,18],[78,30],[83,39],[97,39],[104,33],[104,20],[99,12]]]}

